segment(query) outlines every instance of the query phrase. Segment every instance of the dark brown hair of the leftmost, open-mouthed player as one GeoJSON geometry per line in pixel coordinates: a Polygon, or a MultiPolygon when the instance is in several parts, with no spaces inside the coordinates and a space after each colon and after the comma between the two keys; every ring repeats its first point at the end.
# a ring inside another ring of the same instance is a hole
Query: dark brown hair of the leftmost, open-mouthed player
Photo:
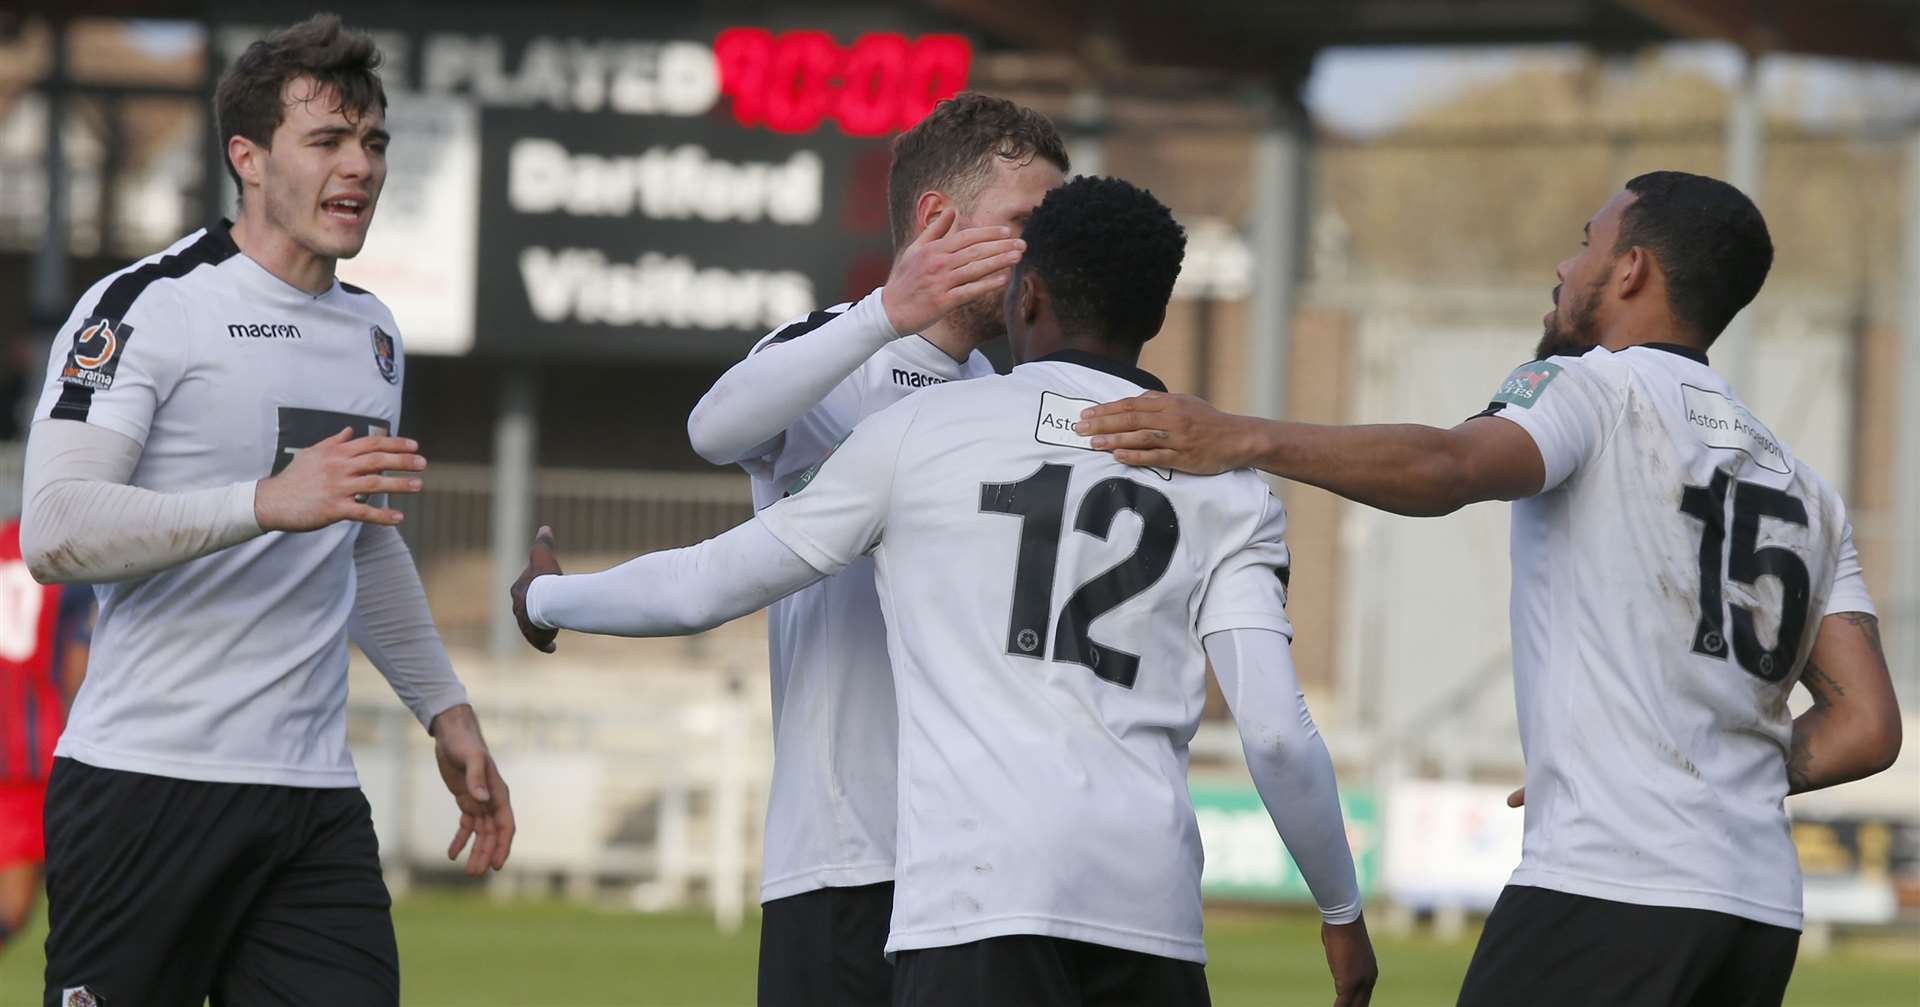
{"type": "Polygon", "coordinates": [[[286,119],[282,94],[288,81],[311,77],[338,102],[328,111],[361,117],[369,108],[386,111],[380,85],[380,46],[363,31],[349,31],[336,13],[315,13],[246,48],[213,90],[213,117],[221,131],[221,161],[234,188],[244,192],[240,173],[227,158],[227,144],[246,136],[273,148],[273,131],[286,119]]]}

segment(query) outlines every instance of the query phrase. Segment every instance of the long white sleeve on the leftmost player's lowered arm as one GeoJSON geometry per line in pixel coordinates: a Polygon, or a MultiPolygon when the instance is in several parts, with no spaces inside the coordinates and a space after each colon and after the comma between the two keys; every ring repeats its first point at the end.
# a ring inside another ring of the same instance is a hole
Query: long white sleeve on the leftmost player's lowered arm
{"type": "Polygon", "coordinates": [[[432,726],[434,717],[467,701],[467,686],[434,628],[420,571],[413,567],[399,528],[363,525],[353,542],[353,573],[348,638],[386,676],[420,726],[432,726]]]}

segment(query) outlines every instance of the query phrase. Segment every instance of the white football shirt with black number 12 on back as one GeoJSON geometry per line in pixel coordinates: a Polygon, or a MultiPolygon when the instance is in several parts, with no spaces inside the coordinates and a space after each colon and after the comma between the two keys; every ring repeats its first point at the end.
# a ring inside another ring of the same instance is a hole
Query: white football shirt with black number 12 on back
{"type": "Polygon", "coordinates": [[[818,571],[876,557],[900,721],[889,953],[1039,934],[1206,961],[1200,640],[1292,634],[1284,511],[1246,471],[1129,469],[1071,432],[1148,386],[1069,352],[931,388],[760,513],[818,571]]]}

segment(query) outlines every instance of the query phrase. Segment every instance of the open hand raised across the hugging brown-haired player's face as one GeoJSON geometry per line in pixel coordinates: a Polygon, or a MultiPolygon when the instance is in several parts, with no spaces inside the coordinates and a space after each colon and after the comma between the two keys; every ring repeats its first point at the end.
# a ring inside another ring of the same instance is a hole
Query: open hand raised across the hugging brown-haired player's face
{"type": "Polygon", "coordinates": [[[893,261],[879,304],[895,332],[920,332],[947,311],[1006,286],[1027,250],[1010,227],[958,229],[958,217],[943,209],[893,261]]]}

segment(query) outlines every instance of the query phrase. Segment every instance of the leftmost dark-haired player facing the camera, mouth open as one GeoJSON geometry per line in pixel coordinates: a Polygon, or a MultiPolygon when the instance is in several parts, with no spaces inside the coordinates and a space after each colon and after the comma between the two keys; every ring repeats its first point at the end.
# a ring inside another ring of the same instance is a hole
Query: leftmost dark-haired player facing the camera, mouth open
{"type": "Polygon", "coordinates": [[[330,15],[250,46],[215,94],[238,219],[94,284],[54,348],[21,546],[102,586],[46,794],[48,1007],[399,1001],[349,636],[434,734],[468,871],[507,857],[386,507],[424,467],[392,436],[399,331],[334,279],[386,181],[378,61],[330,15]]]}

